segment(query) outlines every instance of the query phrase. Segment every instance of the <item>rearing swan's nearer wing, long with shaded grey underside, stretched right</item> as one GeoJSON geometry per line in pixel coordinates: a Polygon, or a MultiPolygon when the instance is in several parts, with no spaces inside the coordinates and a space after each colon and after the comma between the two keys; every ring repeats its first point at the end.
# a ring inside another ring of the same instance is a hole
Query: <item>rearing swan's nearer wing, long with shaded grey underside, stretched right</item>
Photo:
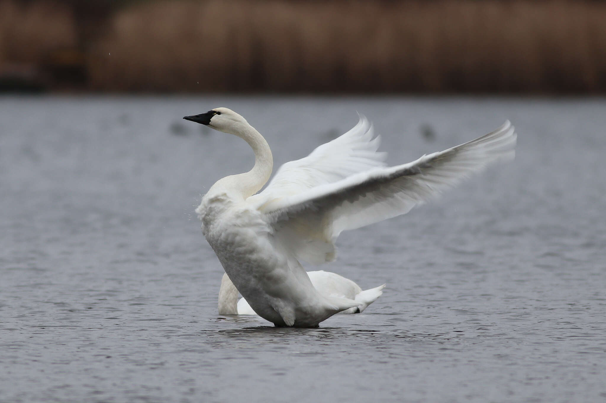
{"type": "Polygon", "coordinates": [[[341,231],[373,224],[435,198],[471,173],[514,156],[509,121],[482,137],[395,167],[376,168],[260,205],[280,239],[299,259],[335,259],[341,231]]]}

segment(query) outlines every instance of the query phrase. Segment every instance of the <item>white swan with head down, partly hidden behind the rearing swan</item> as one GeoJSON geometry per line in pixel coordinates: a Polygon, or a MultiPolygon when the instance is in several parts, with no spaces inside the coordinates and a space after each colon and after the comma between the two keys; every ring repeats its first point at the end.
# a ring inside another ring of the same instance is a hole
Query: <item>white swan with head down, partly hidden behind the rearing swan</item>
{"type": "MultiPolygon", "coordinates": [[[[358,306],[345,309],[339,314],[361,314],[368,305],[383,294],[384,285],[362,291],[362,288],[350,279],[324,270],[308,271],[311,284],[322,295],[350,298],[358,301],[358,306]]],[[[221,279],[219,289],[219,315],[256,315],[245,298],[238,300],[238,289],[233,285],[227,273],[221,279]]]]}

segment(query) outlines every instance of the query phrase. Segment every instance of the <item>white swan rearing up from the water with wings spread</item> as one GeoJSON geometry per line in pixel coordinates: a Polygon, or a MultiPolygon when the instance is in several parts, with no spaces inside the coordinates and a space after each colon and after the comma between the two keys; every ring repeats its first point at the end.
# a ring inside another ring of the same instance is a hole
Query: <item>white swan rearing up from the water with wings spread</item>
{"type": "Polygon", "coordinates": [[[407,213],[471,173],[514,156],[509,121],[475,140],[387,167],[379,137],[363,115],[353,129],[301,160],[273,169],[267,141],[244,117],[215,108],[185,120],[245,140],[255,165],[219,179],[196,213],[202,233],[242,297],[275,326],[318,327],[358,306],[351,298],[322,295],[300,261],[335,260],[341,231],[407,213]],[[259,193],[258,193],[259,192],[259,193]]]}

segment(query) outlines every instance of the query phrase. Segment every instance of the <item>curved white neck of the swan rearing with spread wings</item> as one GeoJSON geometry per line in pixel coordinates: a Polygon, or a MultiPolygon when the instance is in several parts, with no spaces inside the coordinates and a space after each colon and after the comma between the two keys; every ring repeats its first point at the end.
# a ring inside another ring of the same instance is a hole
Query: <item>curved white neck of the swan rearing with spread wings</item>
{"type": "Polygon", "coordinates": [[[269,180],[273,169],[273,156],[269,144],[263,136],[250,124],[239,124],[232,130],[225,131],[244,139],[255,153],[255,166],[248,172],[231,175],[221,179],[217,184],[228,187],[230,190],[241,193],[246,199],[259,192],[269,180]]]}

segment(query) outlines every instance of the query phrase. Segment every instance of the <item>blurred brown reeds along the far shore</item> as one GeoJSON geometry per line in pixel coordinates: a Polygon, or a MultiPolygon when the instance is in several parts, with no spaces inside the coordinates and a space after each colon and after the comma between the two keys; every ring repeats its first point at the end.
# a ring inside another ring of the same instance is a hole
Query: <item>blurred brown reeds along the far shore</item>
{"type": "Polygon", "coordinates": [[[605,21],[598,1],[0,0],[0,89],[605,94],[605,21]]]}

